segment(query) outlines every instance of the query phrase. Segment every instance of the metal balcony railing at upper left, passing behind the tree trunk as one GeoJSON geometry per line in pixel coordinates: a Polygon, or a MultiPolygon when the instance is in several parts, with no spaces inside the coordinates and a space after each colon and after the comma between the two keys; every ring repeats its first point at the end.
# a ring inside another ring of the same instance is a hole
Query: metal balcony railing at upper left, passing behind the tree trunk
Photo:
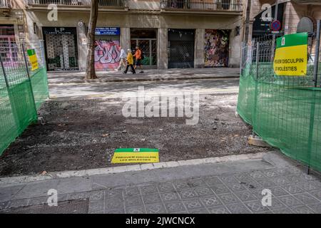
{"type": "MultiPolygon", "coordinates": [[[[126,0],[99,0],[98,4],[106,8],[124,8],[126,0]]],[[[90,6],[91,0],[28,0],[29,5],[48,6],[56,4],[57,6],[90,6]]]]}

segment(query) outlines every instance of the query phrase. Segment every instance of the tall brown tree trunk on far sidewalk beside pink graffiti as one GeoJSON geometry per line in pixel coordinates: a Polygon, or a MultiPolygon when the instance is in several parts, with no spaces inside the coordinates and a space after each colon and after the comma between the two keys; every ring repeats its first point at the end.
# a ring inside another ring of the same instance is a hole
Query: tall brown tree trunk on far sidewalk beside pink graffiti
{"type": "Polygon", "coordinates": [[[98,0],[91,0],[91,16],[88,24],[87,34],[87,60],[86,60],[86,79],[95,79],[95,31],[98,17],[98,0]]]}

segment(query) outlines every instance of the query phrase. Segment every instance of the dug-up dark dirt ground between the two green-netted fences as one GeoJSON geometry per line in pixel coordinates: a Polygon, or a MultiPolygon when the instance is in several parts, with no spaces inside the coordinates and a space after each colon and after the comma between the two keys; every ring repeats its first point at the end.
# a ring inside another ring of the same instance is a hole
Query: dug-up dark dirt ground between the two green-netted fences
{"type": "Polygon", "coordinates": [[[120,99],[49,100],[45,125],[31,125],[0,157],[0,176],[111,167],[118,147],[158,148],[160,161],[264,152],[248,145],[237,95],[200,95],[200,120],[125,118],[120,99]]]}

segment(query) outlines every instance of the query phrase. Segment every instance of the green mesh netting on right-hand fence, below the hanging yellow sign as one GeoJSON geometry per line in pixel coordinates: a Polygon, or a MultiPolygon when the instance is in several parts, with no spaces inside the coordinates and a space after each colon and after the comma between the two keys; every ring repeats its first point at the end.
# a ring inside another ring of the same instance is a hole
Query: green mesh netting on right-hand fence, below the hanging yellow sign
{"type": "MultiPolygon", "coordinates": [[[[307,76],[275,76],[270,63],[245,66],[238,113],[263,140],[285,155],[321,170],[321,88],[307,76]]],[[[320,75],[320,71],[319,71],[320,75]]]]}

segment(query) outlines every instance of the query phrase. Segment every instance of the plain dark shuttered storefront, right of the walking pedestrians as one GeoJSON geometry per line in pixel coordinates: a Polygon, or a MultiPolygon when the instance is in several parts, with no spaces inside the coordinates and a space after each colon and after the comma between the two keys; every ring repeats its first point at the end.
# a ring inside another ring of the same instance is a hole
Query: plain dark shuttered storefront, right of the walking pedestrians
{"type": "Polygon", "coordinates": [[[168,68],[194,67],[195,30],[168,29],[168,68]]]}

